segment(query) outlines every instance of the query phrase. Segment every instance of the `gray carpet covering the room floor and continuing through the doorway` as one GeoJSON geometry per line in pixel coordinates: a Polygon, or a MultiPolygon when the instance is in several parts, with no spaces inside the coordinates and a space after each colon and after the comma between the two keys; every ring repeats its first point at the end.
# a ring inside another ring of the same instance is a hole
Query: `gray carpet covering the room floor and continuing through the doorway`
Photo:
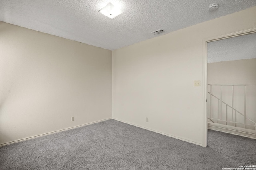
{"type": "Polygon", "coordinates": [[[0,170],[221,170],[256,164],[256,140],[208,130],[208,147],[108,120],[0,147],[0,170]]]}

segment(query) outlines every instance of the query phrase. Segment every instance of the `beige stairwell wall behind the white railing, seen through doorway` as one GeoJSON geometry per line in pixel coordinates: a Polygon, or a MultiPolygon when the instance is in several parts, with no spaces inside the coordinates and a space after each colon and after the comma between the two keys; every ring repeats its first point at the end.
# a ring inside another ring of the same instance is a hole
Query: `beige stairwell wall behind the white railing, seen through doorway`
{"type": "MultiPolygon", "coordinates": [[[[256,59],[244,59],[235,61],[224,61],[208,63],[207,68],[208,84],[254,84],[256,85],[256,59]]],[[[208,86],[210,92],[210,86],[208,86]]],[[[212,94],[220,98],[220,86],[212,86],[212,94]]],[[[246,116],[256,122],[256,86],[246,87],[246,116]]],[[[222,86],[222,100],[232,106],[232,86],[222,86]]],[[[210,95],[208,94],[208,116],[210,114],[210,95]]],[[[220,107],[220,102],[219,102],[220,107]]],[[[234,109],[244,114],[244,86],[234,86],[234,109]]],[[[222,104],[222,117],[218,117],[218,100],[212,97],[211,117],[232,121],[232,109],[222,104]]],[[[233,119],[235,113],[233,113],[233,119]]],[[[216,121],[215,121],[216,122],[216,121]]],[[[236,113],[236,122],[244,123],[244,117],[236,113]]],[[[225,124],[226,122],[220,121],[225,124]]],[[[248,121],[248,124],[254,125],[248,121]]],[[[228,123],[234,125],[234,123],[228,123]]],[[[237,124],[238,127],[244,127],[237,124]]],[[[253,126],[246,126],[248,129],[255,129],[253,126]]]]}

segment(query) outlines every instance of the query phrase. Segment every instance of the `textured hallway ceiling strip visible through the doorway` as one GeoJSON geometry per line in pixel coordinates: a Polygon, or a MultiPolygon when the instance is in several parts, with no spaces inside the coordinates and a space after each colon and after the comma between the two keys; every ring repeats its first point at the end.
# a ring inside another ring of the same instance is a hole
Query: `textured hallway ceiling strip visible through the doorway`
{"type": "Polygon", "coordinates": [[[207,43],[208,63],[256,58],[256,33],[207,43]]]}

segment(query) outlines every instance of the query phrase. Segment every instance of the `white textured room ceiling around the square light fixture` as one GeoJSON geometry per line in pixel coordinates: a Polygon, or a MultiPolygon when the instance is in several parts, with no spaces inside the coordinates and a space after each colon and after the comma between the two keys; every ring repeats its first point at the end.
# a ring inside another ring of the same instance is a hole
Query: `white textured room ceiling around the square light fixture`
{"type": "Polygon", "coordinates": [[[0,21],[114,50],[252,6],[256,0],[0,0],[0,21]],[[124,13],[98,12],[108,2],[124,13]]]}

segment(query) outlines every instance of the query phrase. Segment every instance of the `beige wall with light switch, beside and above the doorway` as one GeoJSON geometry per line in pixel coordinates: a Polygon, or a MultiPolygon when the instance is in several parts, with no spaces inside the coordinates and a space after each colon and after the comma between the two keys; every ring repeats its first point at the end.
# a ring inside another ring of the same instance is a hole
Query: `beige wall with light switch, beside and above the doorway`
{"type": "Polygon", "coordinates": [[[193,84],[202,40],[256,27],[254,16],[256,7],[113,51],[113,118],[204,145],[204,89],[193,84]]]}

